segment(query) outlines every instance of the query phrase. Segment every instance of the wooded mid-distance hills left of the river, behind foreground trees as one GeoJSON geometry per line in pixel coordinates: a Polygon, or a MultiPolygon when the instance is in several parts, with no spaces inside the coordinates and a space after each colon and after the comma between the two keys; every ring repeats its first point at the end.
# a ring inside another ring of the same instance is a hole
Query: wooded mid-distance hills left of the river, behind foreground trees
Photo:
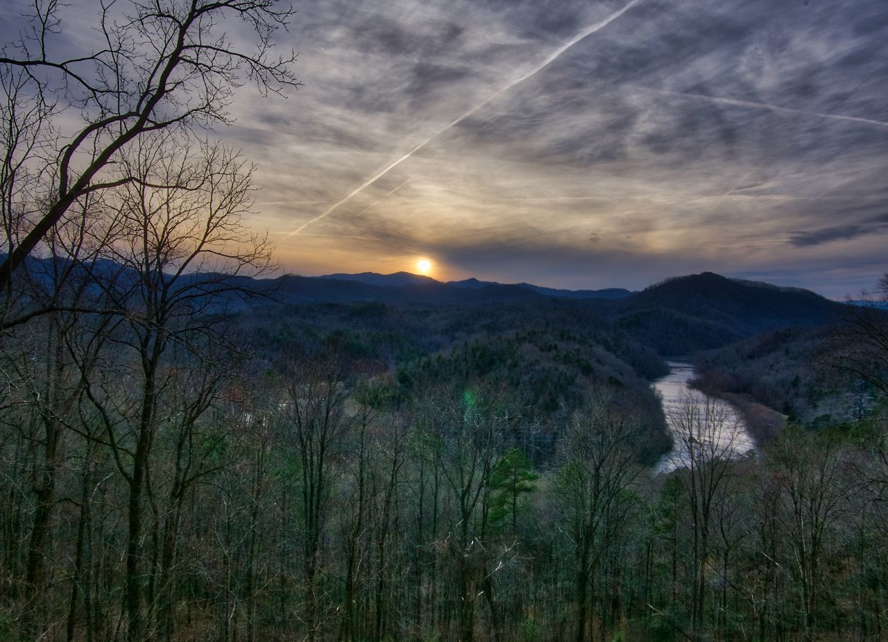
{"type": "Polygon", "coordinates": [[[537,426],[543,458],[565,416],[603,387],[619,391],[644,417],[643,461],[655,461],[670,445],[649,385],[668,372],[665,362],[571,302],[270,305],[243,310],[234,321],[254,360],[268,368],[294,348],[311,354],[336,345],[348,368],[392,376],[405,404],[440,388],[496,393],[537,426]]]}

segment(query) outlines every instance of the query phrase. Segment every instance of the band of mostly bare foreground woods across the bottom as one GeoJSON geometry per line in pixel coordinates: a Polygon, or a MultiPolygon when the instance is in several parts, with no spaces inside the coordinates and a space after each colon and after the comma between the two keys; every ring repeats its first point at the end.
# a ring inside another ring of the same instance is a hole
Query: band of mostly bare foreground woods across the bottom
{"type": "Polygon", "coordinates": [[[884,638],[875,421],[710,456],[692,406],[694,462],[654,475],[624,391],[541,426],[496,386],[404,399],[337,337],[237,365],[124,282],[126,316],[4,351],[8,639],[884,638]]]}

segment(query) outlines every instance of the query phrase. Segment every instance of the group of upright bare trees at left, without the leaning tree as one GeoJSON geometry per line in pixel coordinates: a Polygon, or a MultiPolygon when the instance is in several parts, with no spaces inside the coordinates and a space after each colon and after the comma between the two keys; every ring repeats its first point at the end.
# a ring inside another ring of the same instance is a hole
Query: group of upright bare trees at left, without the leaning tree
{"type": "Polygon", "coordinates": [[[25,637],[43,632],[54,583],[44,559],[65,501],[56,491],[73,467],[83,479],[80,495],[69,498],[80,512],[67,637],[75,636],[80,596],[94,599],[96,587],[82,582],[95,570],[87,504],[98,468],[102,483],[116,488],[112,501],[126,507],[115,535],[125,542],[123,584],[120,609],[103,604],[87,632],[116,622],[131,640],[170,638],[186,498],[218,467],[202,422],[234,380],[236,352],[213,313],[224,310],[239,277],[270,266],[265,242],[241,224],[251,203],[249,166],[224,147],[189,149],[161,134],[141,143],[119,168],[137,180],[96,196],[88,217],[57,226],[54,253],[29,273],[36,305],[64,298],[68,311],[42,314],[4,337],[5,362],[18,373],[7,378],[7,419],[40,445],[19,460],[23,471],[39,470],[33,499],[22,488],[33,518],[22,525],[27,561],[12,586],[23,598],[25,637]],[[91,249],[89,263],[72,259],[82,259],[75,254],[83,248],[91,249]],[[32,332],[45,333],[50,352],[21,343],[33,341],[32,332]],[[41,433],[27,416],[41,417],[41,433]]]}

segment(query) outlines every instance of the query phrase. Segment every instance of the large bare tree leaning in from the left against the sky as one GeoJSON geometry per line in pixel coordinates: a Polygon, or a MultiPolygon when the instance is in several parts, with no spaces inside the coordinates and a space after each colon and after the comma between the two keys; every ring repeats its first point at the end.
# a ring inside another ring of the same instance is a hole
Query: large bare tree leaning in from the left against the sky
{"type": "Polygon", "coordinates": [[[55,59],[48,52],[61,33],[64,5],[35,1],[20,40],[0,51],[7,253],[0,282],[10,281],[75,202],[144,178],[115,171],[131,147],[144,148],[158,131],[194,140],[196,131],[230,122],[234,91],[248,81],[262,94],[297,87],[295,53],[273,52],[274,32],[292,15],[277,4],[131,0],[118,11],[103,2],[96,48],[55,59]],[[234,21],[250,29],[252,42],[226,36],[234,21]],[[74,111],[80,123],[69,128],[60,116],[74,111]],[[40,208],[23,207],[41,170],[48,178],[39,186],[40,208]]]}

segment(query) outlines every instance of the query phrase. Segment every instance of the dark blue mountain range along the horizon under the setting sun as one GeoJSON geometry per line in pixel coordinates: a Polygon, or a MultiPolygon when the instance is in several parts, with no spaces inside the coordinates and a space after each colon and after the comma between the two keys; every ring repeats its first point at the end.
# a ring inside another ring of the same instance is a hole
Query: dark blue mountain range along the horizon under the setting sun
{"type": "MultiPolygon", "coordinates": [[[[36,281],[52,283],[53,264],[33,260],[29,273],[36,281]]],[[[58,266],[59,264],[54,264],[58,266]]],[[[104,261],[83,266],[85,274],[133,282],[127,270],[104,261]]],[[[35,281],[31,281],[34,283],[35,281]]],[[[693,353],[733,343],[760,332],[789,327],[812,327],[836,321],[846,305],[806,289],[780,288],[768,283],[729,279],[704,272],[675,277],[640,292],[627,289],[554,289],[531,283],[497,283],[465,279],[436,281],[428,276],[397,272],[298,276],[276,279],[238,278],[216,288],[212,274],[183,275],[180,287],[196,285],[217,313],[246,311],[265,305],[349,304],[375,302],[387,305],[475,306],[559,305],[582,306],[603,322],[666,355],[693,353]],[[258,296],[249,296],[258,295],[258,296]]],[[[528,307],[529,309],[529,307],[528,307]]]]}

